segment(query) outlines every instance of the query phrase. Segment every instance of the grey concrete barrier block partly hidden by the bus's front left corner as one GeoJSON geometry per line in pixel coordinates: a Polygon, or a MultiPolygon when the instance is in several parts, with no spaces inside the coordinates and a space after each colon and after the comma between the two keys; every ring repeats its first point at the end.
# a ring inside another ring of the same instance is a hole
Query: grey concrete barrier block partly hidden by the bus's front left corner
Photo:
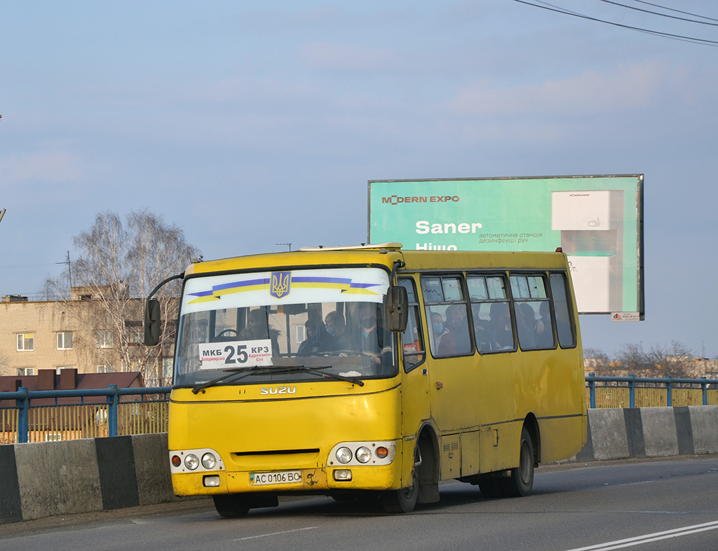
{"type": "Polygon", "coordinates": [[[167,433],[132,436],[139,503],[149,505],[176,499],[169,476],[167,433]]]}

